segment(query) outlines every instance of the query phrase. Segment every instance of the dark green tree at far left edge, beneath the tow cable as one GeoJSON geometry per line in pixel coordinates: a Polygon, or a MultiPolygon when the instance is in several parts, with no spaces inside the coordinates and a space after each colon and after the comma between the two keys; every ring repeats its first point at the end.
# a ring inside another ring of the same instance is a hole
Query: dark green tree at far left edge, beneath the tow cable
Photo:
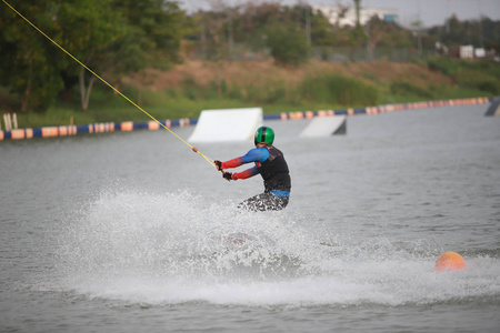
{"type": "MultiPolygon", "coordinates": [[[[11,1],[42,31],[53,32],[56,1],[11,1]]],[[[53,46],[7,6],[0,11],[0,84],[19,98],[22,112],[44,111],[62,88],[53,46]]]]}

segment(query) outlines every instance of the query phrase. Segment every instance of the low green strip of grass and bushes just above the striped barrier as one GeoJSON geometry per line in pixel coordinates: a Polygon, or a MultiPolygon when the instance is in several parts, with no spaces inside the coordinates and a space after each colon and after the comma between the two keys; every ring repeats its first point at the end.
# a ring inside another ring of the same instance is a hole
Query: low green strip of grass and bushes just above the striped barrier
{"type": "MultiPolygon", "coordinates": [[[[346,78],[342,78],[338,80],[337,84],[331,84],[327,89],[328,77],[333,75],[311,74],[309,79],[299,83],[298,87],[289,85],[280,80],[258,81],[250,87],[228,82],[222,83],[223,80],[220,80],[218,84],[216,84],[216,81],[208,84],[199,84],[191,78],[184,81],[182,89],[158,92],[126,87],[123,93],[159,120],[194,118],[199,117],[200,111],[206,109],[259,105],[262,107],[264,113],[279,113],[356,108],[376,105],[378,103],[414,102],[430,99],[426,92],[426,87],[416,84],[411,80],[398,80],[396,82],[399,83],[390,84],[390,82],[379,81],[379,79],[377,85],[372,87],[359,80],[346,80],[346,78]],[[312,87],[317,82],[321,84],[312,87]],[[220,92],[218,87],[221,88],[220,92]],[[301,91],[301,89],[306,90],[306,88],[308,94],[301,91]],[[342,91],[343,89],[352,91],[342,91]],[[376,99],[363,99],[363,95],[370,95],[370,93],[373,93],[373,90],[376,91],[374,94],[377,94],[376,99]],[[350,97],[350,102],[342,104],[337,99],[330,98],[329,94],[333,92],[350,97]]],[[[114,95],[107,87],[102,84],[97,85],[94,90],[93,103],[87,112],[82,112],[72,103],[58,101],[54,105],[48,108],[43,115],[38,113],[18,114],[19,124],[20,127],[68,124],[71,118],[73,118],[73,123],[76,124],[150,120],[123,98],[114,95]]],[[[433,97],[431,99],[436,100],[486,95],[483,91],[476,88],[432,83],[427,88],[427,91],[432,93],[433,97]]],[[[3,95],[10,95],[10,93],[1,89],[0,98],[2,98],[2,101],[3,95]]]]}

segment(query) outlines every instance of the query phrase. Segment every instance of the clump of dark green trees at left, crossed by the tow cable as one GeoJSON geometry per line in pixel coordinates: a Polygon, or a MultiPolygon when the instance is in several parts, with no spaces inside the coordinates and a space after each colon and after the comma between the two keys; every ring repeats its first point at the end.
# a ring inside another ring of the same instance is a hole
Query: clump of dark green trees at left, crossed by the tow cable
{"type": "MultiPolygon", "coordinates": [[[[187,17],[162,0],[10,1],[92,71],[117,83],[146,65],[168,68],[180,60],[187,17]]],[[[0,84],[22,111],[43,112],[58,94],[72,95],[82,67],[3,3],[0,11],[0,84]]],[[[87,80],[90,73],[84,73],[87,80]]],[[[80,87],[82,91],[89,87],[80,87]]],[[[82,101],[82,105],[83,105],[82,101]]]]}

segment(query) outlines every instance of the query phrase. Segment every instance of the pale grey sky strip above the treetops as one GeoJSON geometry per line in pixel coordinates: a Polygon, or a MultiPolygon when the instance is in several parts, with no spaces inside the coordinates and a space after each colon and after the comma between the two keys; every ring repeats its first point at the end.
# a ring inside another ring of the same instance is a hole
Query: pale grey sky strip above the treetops
{"type": "MultiPolygon", "coordinates": [[[[228,6],[238,6],[249,0],[179,0],[188,12],[199,8],[210,9],[213,2],[221,1],[228,6]]],[[[268,0],[286,6],[297,4],[299,0],[268,0]]],[[[300,0],[310,6],[353,6],[352,0],[300,0]]],[[[263,2],[262,0],[252,2],[263,2]]],[[[500,20],[500,0],[361,0],[361,7],[394,9],[399,12],[399,22],[410,26],[422,21],[424,27],[442,26],[444,20],[456,14],[459,20],[474,20],[486,16],[491,20],[500,20]]]]}

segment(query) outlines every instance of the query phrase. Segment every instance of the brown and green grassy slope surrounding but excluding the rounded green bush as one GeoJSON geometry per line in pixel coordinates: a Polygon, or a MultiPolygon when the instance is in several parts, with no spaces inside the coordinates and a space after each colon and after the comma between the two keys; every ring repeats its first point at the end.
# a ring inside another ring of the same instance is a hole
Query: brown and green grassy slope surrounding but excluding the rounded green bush
{"type": "MultiPolygon", "coordinates": [[[[278,113],[366,107],[356,102],[342,105],[293,95],[306,79],[326,73],[352,78],[374,88],[379,104],[491,95],[473,87],[457,87],[457,74],[431,71],[424,63],[392,62],[311,61],[301,68],[282,68],[270,61],[186,61],[170,71],[150,69],[126,78],[118,89],[159,120],[196,118],[203,109],[219,108],[262,107],[264,113],[278,113]]],[[[58,103],[44,114],[19,115],[20,127],[68,124],[71,118],[76,124],[150,120],[109,88],[97,85],[87,112],[79,110],[77,102],[58,103]]],[[[78,101],[77,93],[74,99],[78,101]]]]}

